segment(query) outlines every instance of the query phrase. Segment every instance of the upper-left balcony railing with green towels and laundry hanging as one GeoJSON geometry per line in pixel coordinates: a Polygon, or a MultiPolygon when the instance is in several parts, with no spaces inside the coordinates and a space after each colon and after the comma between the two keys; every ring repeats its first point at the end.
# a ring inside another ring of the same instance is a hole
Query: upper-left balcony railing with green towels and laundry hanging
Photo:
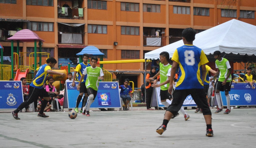
{"type": "Polygon", "coordinates": [[[61,19],[83,19],[83,8],[58,7],[58,18],[61,19]]]}

